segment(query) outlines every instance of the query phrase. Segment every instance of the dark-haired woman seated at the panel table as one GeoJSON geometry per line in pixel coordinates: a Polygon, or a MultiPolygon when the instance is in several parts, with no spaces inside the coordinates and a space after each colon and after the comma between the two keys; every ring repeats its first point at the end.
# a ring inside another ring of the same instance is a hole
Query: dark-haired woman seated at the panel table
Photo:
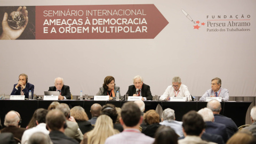
{"type": "Polygon", "coordinates": [[[113,76],[106,76],[103,86],[100,87],[100,90],[96,95],[109,95],[109,100],[113,100],[117,96],[120,97],[120,87],[116,86],[115,78],[113,76]],[[119,95],[116,95],[117,91],[119,92],[119,95]]]}

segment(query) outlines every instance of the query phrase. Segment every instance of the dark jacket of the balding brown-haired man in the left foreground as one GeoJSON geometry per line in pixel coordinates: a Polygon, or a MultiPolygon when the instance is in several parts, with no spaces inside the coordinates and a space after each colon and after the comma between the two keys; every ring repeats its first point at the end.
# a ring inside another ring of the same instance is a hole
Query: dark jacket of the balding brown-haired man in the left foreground
{"type": "Polygon", "coordinates": [[[64,133],[60,131],[51,131],[49,133],[49,136],[53,144],[78,144],[76,140],[67,137],[64,133]]]}

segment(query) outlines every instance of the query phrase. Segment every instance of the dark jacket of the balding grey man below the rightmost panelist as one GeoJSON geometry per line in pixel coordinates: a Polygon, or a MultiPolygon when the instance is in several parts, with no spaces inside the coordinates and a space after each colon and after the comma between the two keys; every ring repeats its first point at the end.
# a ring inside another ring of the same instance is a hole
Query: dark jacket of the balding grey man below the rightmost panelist
{"type": "Polygon", "coordinates": [[[226,116],[222,116],[222,115],[214,115],[214,123],[220,123],[220,124],[224,124],[227,127],[227,133],[228,133],[228,137],[231,138],[232,135],[238,131],[238,128],[235,124],[235,122],[231,119],[228,118],[226,116]]]}

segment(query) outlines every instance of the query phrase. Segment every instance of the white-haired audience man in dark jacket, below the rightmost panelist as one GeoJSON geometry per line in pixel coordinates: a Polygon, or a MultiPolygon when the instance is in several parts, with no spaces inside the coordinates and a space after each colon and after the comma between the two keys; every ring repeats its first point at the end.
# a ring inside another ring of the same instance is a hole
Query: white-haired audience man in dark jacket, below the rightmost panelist
{"type": "Polygon", "coordinates": [[[198,114],[201,115],[206,124],[205,132],[210,134],[218,134],[222,137],[223,141],[226,143],[228,140],[228,134],[226,131],[226,126],[214,122],[214,116],[212,110],[209,108],[202,108],[198,111],[198,114]]]}

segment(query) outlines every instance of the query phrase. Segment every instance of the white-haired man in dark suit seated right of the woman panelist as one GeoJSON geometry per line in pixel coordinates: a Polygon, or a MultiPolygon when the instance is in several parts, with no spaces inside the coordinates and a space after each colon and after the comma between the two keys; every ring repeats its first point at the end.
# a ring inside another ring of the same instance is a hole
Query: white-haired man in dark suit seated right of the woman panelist
{"type": "Polygon", "coordinates": [[[141,100],[152,100],[150,86],[144,84],[143,78],[139,75],[133,78],[133,85],[129,86],[126,94],[129,96],[142,96],[141,100]]]}

